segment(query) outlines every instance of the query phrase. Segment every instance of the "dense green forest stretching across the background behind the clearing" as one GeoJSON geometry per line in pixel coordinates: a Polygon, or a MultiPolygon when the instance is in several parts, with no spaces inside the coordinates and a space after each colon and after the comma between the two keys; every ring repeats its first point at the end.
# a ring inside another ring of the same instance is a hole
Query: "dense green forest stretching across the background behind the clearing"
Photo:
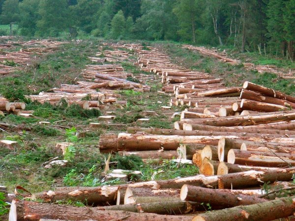
{"type": "Polygon", "coordinates": [[[2,25],[30,37],[171,40],[295,56],[295,0],[0,0],[0,8],[2,25]]]}

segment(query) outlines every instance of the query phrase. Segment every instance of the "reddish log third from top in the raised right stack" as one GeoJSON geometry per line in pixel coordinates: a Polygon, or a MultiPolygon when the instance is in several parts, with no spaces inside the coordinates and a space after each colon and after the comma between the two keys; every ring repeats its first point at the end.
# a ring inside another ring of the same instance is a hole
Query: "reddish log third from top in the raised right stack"
{"type": "Polygon", "coordinates": [[[275,112],[275,111],[289,110],[289,108],[281,106],[281,105],[267,104],[263,102],[251,101],[246,99],[242,99],[241,109],[249,110],[249,111],[259,111],[259,112],[275,112]]]}

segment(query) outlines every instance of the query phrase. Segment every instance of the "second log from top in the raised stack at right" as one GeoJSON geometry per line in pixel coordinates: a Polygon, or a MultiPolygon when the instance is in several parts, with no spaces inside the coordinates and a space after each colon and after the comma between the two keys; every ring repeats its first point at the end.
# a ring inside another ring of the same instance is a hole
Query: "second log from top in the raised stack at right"
{"type": "Polygon", "coordinates": [[[292,109],[295,109],[295,103],[292,103],[290,101],[286,101],[283,99],[274,98],[274,97],[263,96],[260,93],[246,90],[246,89],[242,89],[240,99],[264,102],[269,104],[280,105],[283,107],[291,107],[292,109]]]}

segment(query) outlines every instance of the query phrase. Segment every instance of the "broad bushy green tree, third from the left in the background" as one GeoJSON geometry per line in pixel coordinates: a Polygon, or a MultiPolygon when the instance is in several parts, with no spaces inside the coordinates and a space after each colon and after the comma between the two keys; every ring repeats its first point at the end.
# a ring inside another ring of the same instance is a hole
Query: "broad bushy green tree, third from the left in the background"
{"type": "Polygon", "coordinates": [[[67,0],[40,0],[37,21],[37,34],[40,36],[58,36],[69,27],[67,0]]]}

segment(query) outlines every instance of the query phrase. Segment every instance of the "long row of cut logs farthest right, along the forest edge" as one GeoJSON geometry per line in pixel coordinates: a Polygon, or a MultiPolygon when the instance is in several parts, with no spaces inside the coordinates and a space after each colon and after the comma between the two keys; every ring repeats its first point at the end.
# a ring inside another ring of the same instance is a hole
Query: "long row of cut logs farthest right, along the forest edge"
{"type": "MultiPolygon", "coordinates": [[[[216,57],[217,59],[232,65],[237,65],[242,63],[240,60],[228,57],[225,51],[218,52],[214,48],[208,49],[205,47],[195,47],[192,45],[184,45],[183,47],[192,51],[198,51],[202,55],[216,57]]],[[[289,73],[282,72],[278,70],[278,68],[275,65],[255,65],[253,63],[242,63],[242,64],[248,70],[257,70],[259,73],[265,73],[265,72],[274,73],[284,79],[295,79],[295,71],[290,70],[289,73]]]]}

